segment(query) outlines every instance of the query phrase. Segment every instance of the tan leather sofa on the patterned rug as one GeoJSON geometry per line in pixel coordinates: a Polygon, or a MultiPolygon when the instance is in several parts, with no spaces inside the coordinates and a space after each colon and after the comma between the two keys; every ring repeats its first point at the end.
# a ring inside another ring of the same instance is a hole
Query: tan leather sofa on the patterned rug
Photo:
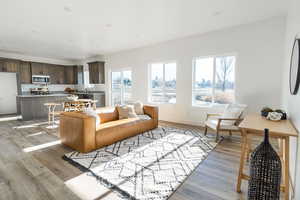
{"type": "Polygon", "coordinates": [[[113,144],[158,126],[158,107],[144,106],[151,119],[129,118],[119,120],[116,108],[97,110],[101,123],[96,127],[95,117],[83,112],[63,112],[60,115],[61,142],[86,153],[113,144]]]}

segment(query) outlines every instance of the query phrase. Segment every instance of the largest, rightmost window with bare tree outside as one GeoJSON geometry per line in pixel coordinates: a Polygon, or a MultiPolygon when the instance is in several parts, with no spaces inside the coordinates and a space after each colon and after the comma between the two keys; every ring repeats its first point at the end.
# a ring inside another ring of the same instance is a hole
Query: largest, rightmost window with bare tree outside
{"type": "Polygon", "coordinates": [[[235,56],[198,58],[193,64],[193,105],[233,103],[235,56]]]}

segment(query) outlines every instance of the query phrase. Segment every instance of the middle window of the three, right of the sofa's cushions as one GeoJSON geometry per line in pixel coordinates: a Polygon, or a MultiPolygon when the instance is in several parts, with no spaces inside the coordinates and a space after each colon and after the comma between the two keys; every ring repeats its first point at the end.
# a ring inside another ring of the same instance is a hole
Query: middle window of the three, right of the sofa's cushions
{"type": "Polygon", "coordinates": [[[150,101],[176,103],[176,63],[150,65],[150,101]]]}

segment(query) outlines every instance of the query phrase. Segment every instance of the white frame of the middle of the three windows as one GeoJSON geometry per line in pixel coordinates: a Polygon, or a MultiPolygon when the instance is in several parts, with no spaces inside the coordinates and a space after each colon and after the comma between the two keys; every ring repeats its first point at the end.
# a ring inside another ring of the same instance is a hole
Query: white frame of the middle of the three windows
{"type": "Polygon", "coordinates": [[[169,61],[165,61],[165,62],[152,62],[150,64],[148,64],[148,102],[151,104],[171,104],[174,105],[177,103],[177,61],[176,60],[169,60],[169,61]],[[170,63],[175,63],[176,65],[176,89],[175,89],[175,94],[176,94],[176,102],[175,103],[170,103],[170,102],[153,102],[152,101],[152,65],[155,64],[162,64],[163,65],[163,88],[162,88],[162,93],[163,93],[163,97],[166,96],[166,88],[165,88],[165,81],[166,81],[166,77],[165,77],[165,65],[166,64],[170,64],[170,63]]]}

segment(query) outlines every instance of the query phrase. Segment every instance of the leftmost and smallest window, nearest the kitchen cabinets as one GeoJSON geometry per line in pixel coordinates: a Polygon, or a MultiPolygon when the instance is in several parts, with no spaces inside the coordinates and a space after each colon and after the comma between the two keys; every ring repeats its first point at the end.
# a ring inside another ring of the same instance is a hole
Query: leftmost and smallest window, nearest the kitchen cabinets
{"type": "Polygon", "coordinates": [[[112,105],[126,104],[132,94],[131,71],[117,71],[111,73],[111,102],[112,105]]]}

